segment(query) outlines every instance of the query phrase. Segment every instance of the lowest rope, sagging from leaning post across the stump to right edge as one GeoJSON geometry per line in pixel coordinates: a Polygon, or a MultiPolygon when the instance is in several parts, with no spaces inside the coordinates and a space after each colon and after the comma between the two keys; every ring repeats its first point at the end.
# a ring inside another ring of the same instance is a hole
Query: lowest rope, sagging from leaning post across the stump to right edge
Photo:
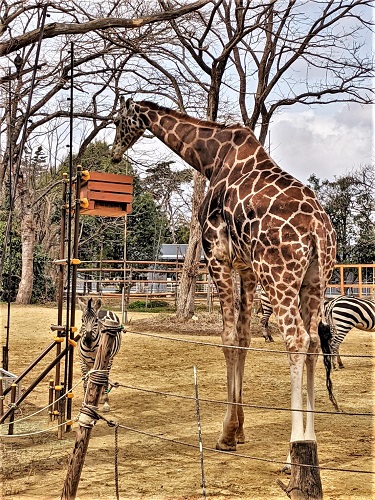
{"type": "MultiPolygon", "coordinates": [[[[167,437],[164,437],[164,436],[161,436],[161,435],[158,435],[158,434],[153,434],[151,432],[141,431],[139,429],[134,429],[133,427],[128,427],[126,425],[121,425],[119,423],[115,423],[113,420],[106,419],[105,417],[103,417],[103,415],[99,414],[98,416],[99,416],[99,418],[101,420],[104,420],[105,422],[107,422],[107,424],[110,427],[113,427],[113,426],[117,425],[120,429],[124,429],[124,430],[130,431],[130,432],[134,432],[136,434],[141,434],[143,436],[147,436],[147,437],[151,437],[151,438],[155,438],[155,439],[160,439],[161,441],[166,441],[166,442],[169,442],[169,443],[179,444],[181,446],[187,446],[187,447],[190,447],[190,448],[199,449],[199,446],[197,446],[196,444],[186,443],[185,441],[180,441],[178,439],[167,438],[167,437]]],[[[202,449],[204,451],[209,451],[209,452],[212,452],[212,453],[224,454],[225,456],[230,455],[230,456],[233,456],[233,457],[248,458],[250,460],[255,460],[255,461],[258,461],[258,462],[267,462],[267,463],[272,463],[272,464],[285,465],[285,462],[282,462],[280,460],[274,460],[272,458],[260,458],[260,457],[254,457],[252,455],[245,455],[245,454],[242,454],[242,453],[235,453],[235,452],[232,452],[232,451],[216,450],[215,448],[209,448],[207,446],[203,446],[202,449]]],[[[356,473],[356,474],[375,474],[375,471],[367,471],[367,470],[361,470],[361,469],[344,469],[344,468],[340,468],[340,467],[324,467],[324,466],[322,467],[322,466],[318,466],[318,465],[299,464],[299,463],[298,464],[297,463],[290,463],[290,465],[296,465],[298,467],[313,467],[315,469],[326,470],[326,471],[334,471],[334,472],[352,472],[352,473],[356,473]]]]}

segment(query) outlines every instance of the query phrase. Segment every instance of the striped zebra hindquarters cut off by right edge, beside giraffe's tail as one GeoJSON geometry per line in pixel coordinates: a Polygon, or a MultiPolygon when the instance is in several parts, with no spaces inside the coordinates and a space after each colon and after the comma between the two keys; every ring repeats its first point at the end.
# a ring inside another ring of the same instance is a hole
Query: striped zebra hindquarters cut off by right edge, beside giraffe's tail
{"type": "Polygon", "coordinates": [[[352,328],[375,332],[375,302],[370,299],[340,295],[324,306],[326,319],[331,327],[331,351],[333,368],[344,368],[339,347],[352,328]]]}

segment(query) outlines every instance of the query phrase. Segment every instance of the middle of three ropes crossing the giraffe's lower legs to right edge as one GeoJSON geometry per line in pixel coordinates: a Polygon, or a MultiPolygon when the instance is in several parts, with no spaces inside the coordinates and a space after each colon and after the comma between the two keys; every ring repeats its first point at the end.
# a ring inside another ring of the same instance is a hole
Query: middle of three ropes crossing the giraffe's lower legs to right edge
{"type": "MultiPolygon", "coordinates": [[[[142,392],[148,392],[151,394],[159,394],[160,396],[169,396],[173,398],[181,398],[181,399],[190,399],[190,400],[195,400],[194,396],[186,396],[182,394],[173,394],[171,392],[163,392],[163,391],[156,391],[152,389],[144,389],[142,387],[135,387],[133,385],[125,385],[125,384],[120,384],[119,382],[116,382],[113,384],[114,387],[124,387],[126,389],[131,389],[131,390],[136,390],[136,391],[142,391],[142,392]]],[[[277,407],[277,406],[262,406],[262,405],[254,405],[250,403],[228,403],[228,401],[220,401],[218,399],[205,399],[205,398],[199,398],[199,401],[201,403],[215,403],[215,404],[222,404],[222,405],[237,405],[237,406],[243,406],[246,408],[255,408],[258,410],[276,410],[276,411],[299,411],[302,413],[315,413],[319,415],[343,415],[343,416],[354,416],[354,417],[374,417],[375,413],[350,413],[350,412],[337,412],[337,411],[324,411],[324,410],[304,410],[304,409],[291,409],[291,408],[283,408],[283,407],[277,407]]]]}

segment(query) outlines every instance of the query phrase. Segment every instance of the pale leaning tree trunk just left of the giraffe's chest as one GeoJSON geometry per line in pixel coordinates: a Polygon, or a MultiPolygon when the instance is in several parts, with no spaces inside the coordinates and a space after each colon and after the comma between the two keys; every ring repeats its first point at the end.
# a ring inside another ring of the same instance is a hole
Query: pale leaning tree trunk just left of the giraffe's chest
{"type": "Polygon", "coordinates": [[[202,230],[198,220],[198,213],[205,188],[205,177],[203,177],[200,173],[195,172],[190,238],[177,294],[176,316],[181,320],[190,319],[194,314],[195,284],[202,249],[202,230]]]}

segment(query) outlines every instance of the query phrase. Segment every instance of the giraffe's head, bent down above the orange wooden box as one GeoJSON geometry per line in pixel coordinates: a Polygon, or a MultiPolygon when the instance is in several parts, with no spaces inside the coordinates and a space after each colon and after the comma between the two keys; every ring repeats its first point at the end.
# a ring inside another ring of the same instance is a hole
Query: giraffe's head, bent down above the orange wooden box
{"type": "Polygon", "coordinates": [[[115,119],[116,136],[112,146],[112,161],[118,163],[127,149],[141,137],[146,130],[144,116],[132,99],[120,98],[120,111],[115,119]]]}

